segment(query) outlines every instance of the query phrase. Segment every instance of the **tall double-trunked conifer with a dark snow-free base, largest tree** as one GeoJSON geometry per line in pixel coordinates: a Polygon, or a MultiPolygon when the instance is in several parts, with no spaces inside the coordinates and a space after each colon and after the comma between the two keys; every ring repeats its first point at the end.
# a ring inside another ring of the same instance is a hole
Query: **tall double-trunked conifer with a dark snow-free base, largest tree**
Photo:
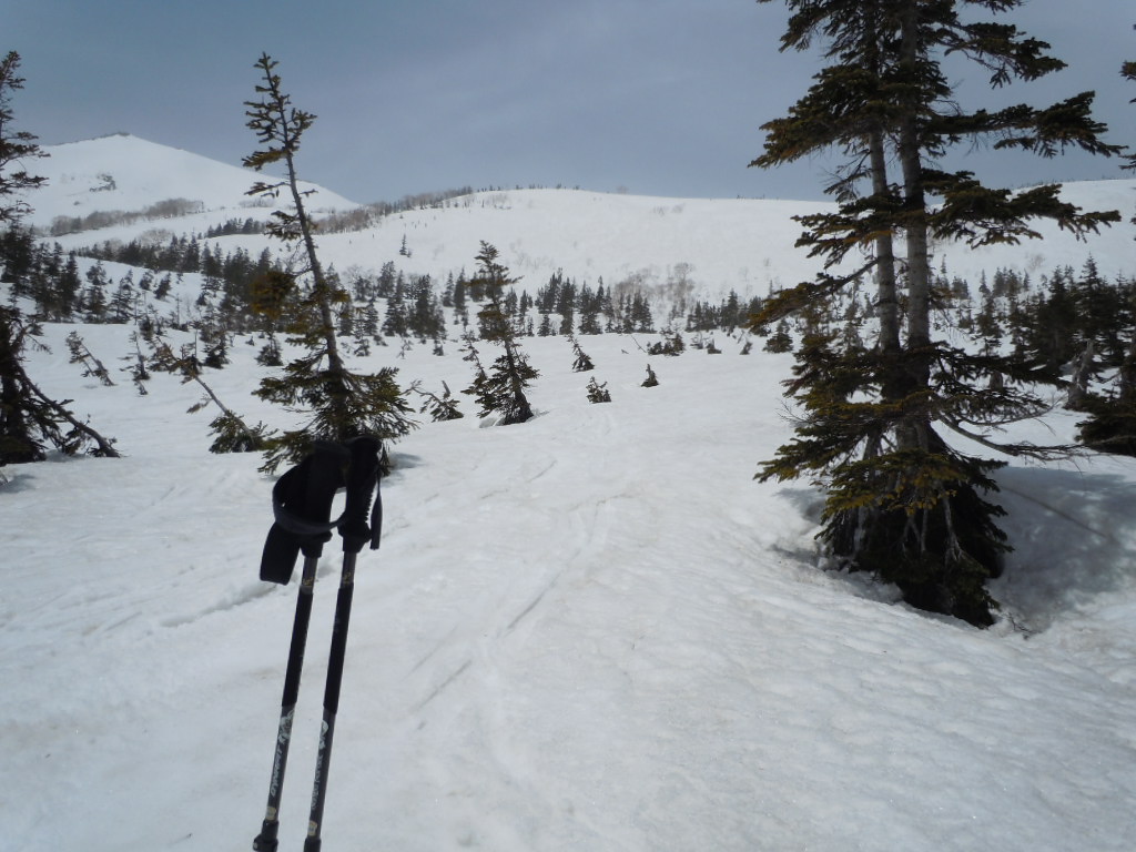
{"type": "MultiPolygon", "coordinates": [[[[770,2],[771,0],[759,0],[770,2]]],[[[786,384],[804,409],[793,442],[763,463],[762,479],[812,476],[826,487],[821,541],[852,569],[899,585],[905,600],[975,625],[993,621],[985,582],[1008,549],[996,525],[1002,510],[983,494],[1003,462],[959,452],[939,434],[953,429],[994,445],[989,429],[1039,412],[1027,390],[1054,381],[1034,365],[971,354],[932,337],[932,240],[971,247],[1036,236],[1046,217],[1075,234],[1116,222],[1114,211],[1083,212],[1059,186],[1018,193],[984,186],[969,172],[936,164],[958,143],[1051,157],[1067,147],[1110,154],[1103,125],[1089,115],[1092,93],[1046,109],[963,111],[943,70],[947,53],[985,68],[993,86],[1030,81],[1063,64],[1049,45],[1009,24],[966,23],[961,7],[1003,12],[1020,0],[786,0],[792,10],[783,49],[827,44],[832,64],[786,118],[765,125],[766,151],[751,165],[771,167],[826,148],[849,156],[828,191],[836,212],[801,217],[799,245],[825,259],[817,281],[772,298],[758,321],[816,310],[874,272],[879,334],[870,349],[810,324],[786,384]],[[894,167],[897,174],[889,174],[894,167]],[[868,191],[861,189],[867,186],[868,191]],[[930,198],[941,203],[934,207],[930,198]],[[904,299],[897,298],[902,241],[904,299]],[[863,262],[832,270],[859,251],[863,262]],[[999,376],[999,382],[991,377],[999,376]],[[1008,381],[1003,381],[1008,379],[1008,381]]],[[[1018,454],[1044,448],[999,445],[1018,454]]]]}

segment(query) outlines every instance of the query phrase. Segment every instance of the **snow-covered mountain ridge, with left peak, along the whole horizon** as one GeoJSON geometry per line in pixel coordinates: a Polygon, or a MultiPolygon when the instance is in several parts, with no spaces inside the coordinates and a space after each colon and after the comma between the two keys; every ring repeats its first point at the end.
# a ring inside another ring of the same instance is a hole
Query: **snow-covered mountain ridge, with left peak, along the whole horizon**
{"type": "MultiPolygon", "coordinates": [[[[158,229],[204,233],[227,219],[267,217],[264,201],[244,194],[259,176],[248,169],[145,142],[108,136],[47,147],[50,157],[36,161],[48,187],[31,199],[33,222],[49,226],[58,216],[78,217],[97,210],[140,211],[167,199],[200,201],[200,212],[173,218],[139,219],[58,237],[65,248],[103,240],[131,240],[158,229]],[[114,183],[114,189],[108,189],[114,183]]],[[[302,157],[299,161],[302,174],[302,157]]],[[[317,211],[357,208],[326,189],[310,204],[317,211]]],[[[936,267],[977,284],[983,272],[997,268],[1029,273],[1035,279],[1059,266],[1079,269],[1093,256],[1105,276],[1130,275],[1136,228],[1136,179],[1069,184],[1064,197],[1085,209],[1119,209],[1124,225],[1078,242],[1055,225],[1041,223],[1042,240],[1020,245],[970,249],[934,247],[936,267]]],[[[801,226],[793,216],[829,209],[825,202],[767,199],[666,199],[579,190],[508,190],[477,192],[442,206],[383,217],[365,231],[326,234],[321,251],[340,270],[377,272],[389,260],[408,274],[437,281],[473,267],[478,243],[501,251],[502,261],[524,286],[535,291],[558,269],[579,282],[610,287],[620,282],[650,289],[692,286],[695,294],[718,298],[766,295],[770,287],[813,277],[817,261],[794,248],[801,226]],[[403,252],[409,252],[409,257],[403,252]]],[[[267,237],[231,236],[253,254],[267,237]]]]}

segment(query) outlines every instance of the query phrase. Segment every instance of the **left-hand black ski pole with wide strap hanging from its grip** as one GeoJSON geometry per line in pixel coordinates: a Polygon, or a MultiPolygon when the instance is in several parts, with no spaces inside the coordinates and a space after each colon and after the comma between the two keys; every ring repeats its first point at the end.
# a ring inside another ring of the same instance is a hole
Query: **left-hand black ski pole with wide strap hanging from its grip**
{"type": "Polygon", "coordinates": [[[277,847],[284,770],[287,766],[289,744],[292,741],[292,721],[300,692],[300,673],[303,669],[308,624],[311,620],[316,568],[324,543],[331,538],[331,531],[335,526],[329,521],[332,500],[336,490],[343,486],[343,467],[348,458],[343,446],[318,442],[315,451],[285,473],[273,488],[273,509],[276,519],[265,541],[260,559],[260,578],[273,583],[287,583],[301,551],[303,573],[295,603],[295,617],[292,621],[292,642],[284,675],[284,695],[281,699],[276,749],[273,752],[273,772],[268,783],[268,805],[260,834],[252,842],[256,852],[276,852],[277,847]]]}

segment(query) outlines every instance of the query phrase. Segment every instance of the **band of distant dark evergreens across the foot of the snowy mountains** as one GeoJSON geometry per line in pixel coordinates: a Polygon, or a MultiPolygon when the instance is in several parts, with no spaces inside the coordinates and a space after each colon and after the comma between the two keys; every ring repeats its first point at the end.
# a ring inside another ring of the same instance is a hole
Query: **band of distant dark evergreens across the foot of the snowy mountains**
{"type": "MultiPolygon", "coordinates": [[[[231,219],[207,236],[247,233],[253,227],[260,225],[231,219]]],[[[290,294],[277,306],[276,320],[266,320],[264,306],[257,304],[258,290],[273,276],[287,281],[287,270],[267,249],[253,258],[244,249],[225,251],[197,236],[174,236],[161,244],[107,241],[65,252],[59,243],[42,243],[30,231],[9,228],[0,234],[0,264],[12,293],[31,299],[44,319],[125,323],[145,315],[150,323],[206,327],[207,336],[214,339],[270,335],[286,327],[289,302],[302,296],[290,294]],[[81,258],[95,262],[83,264],[81,270],[81,258]],[[105,262],[133,268],[115,278],[105,262]],[[197,292],[186,293],[184,276],[191,273],[202,279],[197,292]],[[179,298],[172,299],[170,293],[179,298]]],[[[465,270],[438,282],[429,275],[408,275],[387,261],[377,275],[341,282],[332,269],[331,276],[343,291],[336,306],[337,333],[354,339],[359,353],[368,352],[371,344],[385,344],[385,339],[440,345],[448,336],[467,333],[485,300],[484,284],[465,270]]],[[[1058,268],[1037,282],[997,269],[974,285],[942,269],[934,292],[944,327],[957,329],[979,351],[1009,351],[1063,373],[1072,407],[1091,404],[1094,384],[1099,386],[1127,361],[1136,360],[1136,282],[1105,279],[1092,259],[1080,270],[1058,268]]],[[[558,270],[535,292],[510,287],[501,298],[501,309],[520,336],[660,329],[728,334],[750,325],[763,301],[730,291],[717,301],[684,296],[660,304],[649,287],[629,282],[607,286],[602,278],[593,286],[558,270]]],[[[766,337],[766,350],[787,352],[818,332],[862,343],[871,336],[866,325],[875,319],[874,291],[861,286],[815,310],[754,331],[766,337]]]]}

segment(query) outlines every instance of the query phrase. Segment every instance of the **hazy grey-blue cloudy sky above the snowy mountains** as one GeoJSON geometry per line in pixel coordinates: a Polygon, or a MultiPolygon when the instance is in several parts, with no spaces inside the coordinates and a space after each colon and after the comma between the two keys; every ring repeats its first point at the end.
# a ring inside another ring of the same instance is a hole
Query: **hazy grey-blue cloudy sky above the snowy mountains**
{"type": "MultiPolygon", "coordinates": [[[[817,159],[747,168],[760,125],[819,66],[779,53],[783,3],[754,0],[0,0],[23,58],[18,130],[41,144],[127,132],[240,165],[245,100],[268,52],[317,115],[301,177],[356,201],[463,185],[702,198],[820,197],[817,159]]],[[[1110,141],[1136,144],[1131,0],[1031,0],[1013,18],[1070,68],[989,100],[1093,89],[1110,141]]],[[[974,103],[969,100],[966,105],[974,103]]],[[[1117,161],[960,152],[1004,185],[1120,177],[1117,161]]],[[[952,164],[958,165],[958,164],[952,164]]]]}

